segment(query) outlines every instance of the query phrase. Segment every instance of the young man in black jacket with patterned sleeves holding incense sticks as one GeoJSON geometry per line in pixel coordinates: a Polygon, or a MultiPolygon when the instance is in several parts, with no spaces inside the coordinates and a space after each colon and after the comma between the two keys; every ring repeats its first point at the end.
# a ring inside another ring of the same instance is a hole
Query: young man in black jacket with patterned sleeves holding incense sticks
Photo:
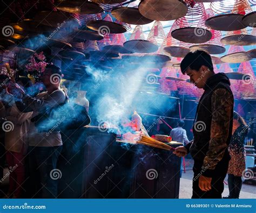
{"type": "Polygon", "coordinates": [[[204,89],[204,94],[197,107],[193,141],[173,153],[183,157],[190,152],[194,159],[192,198],[221,198],[233,125],[230,80],[224,73],[214,73],[211,56],[204,51],[188,53],[180,68],[196,87],[204,89]]]}

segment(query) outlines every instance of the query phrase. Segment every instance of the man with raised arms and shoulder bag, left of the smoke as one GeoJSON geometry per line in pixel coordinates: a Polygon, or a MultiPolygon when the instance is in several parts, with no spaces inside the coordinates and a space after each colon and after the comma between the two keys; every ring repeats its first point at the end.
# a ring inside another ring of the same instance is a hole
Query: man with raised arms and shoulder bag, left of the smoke
{"type": "MultiPolygon", "coordinates": [[[[66,102],[66,95],[60,89],[62,72],[55,65],[47,65],[40,80],[46,87],[45,92],[32,98],[17,86],[13,93],[18,94],[21,101],[16,102],[22,112],[32,111],[32,118],[66,102]],[[58,81],[56,79],[58,77],[58,81]]],[[[57,122],[57,121],[56,121],[57,122]]],[[[33,122],[30,123],[29,135],[29,166],[32,197],[57,198],[58,181],[52,174],[56,171],[57,160],[62,151],[62,137],[59,131],[39,132],[33,122]],[[39,179],[39,180],[38,180],[39,179]]]]}

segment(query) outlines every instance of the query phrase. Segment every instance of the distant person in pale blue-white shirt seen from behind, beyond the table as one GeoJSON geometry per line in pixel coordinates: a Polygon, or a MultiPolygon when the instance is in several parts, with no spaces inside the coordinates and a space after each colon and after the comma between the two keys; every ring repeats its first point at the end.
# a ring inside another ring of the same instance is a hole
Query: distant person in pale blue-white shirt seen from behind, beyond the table
{"type": "Polygon", "coordinates": [[[172,140],[183,143],[183,146],[190,143],[190,141],[187,139],[187,132],[183,129],[184,124],[184,120],[180,119],[178,121],[178,127],[172,129],[170,133],[172,140]]]}

